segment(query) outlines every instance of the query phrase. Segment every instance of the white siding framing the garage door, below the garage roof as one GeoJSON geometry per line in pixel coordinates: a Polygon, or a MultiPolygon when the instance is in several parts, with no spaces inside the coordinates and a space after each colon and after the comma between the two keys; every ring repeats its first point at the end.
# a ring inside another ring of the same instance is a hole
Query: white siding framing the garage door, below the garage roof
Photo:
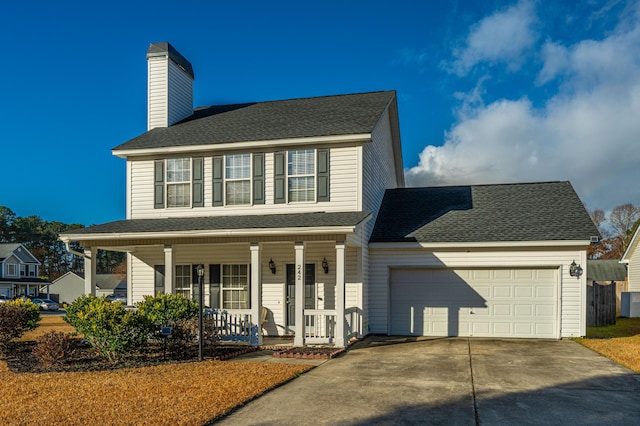
{"type": "Polygon", "coordinates": [[[569,265],[586,264],[586,251],[556,250],[470,250],[370,249],[369,251],[369,331],[388,333],[389,270],[392,267],[423,266],[446,268],[559,268],[560,337],[584,336],[586,332],[586,277],[569,275],[569,265]]]}

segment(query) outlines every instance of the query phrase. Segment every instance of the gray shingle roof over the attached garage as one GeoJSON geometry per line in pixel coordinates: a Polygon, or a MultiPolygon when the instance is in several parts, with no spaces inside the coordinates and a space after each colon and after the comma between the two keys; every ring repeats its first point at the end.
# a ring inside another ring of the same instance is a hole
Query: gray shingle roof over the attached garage
{"type": "Polygon", "coordinates": [[[600,235],[569,182],[387,190],[371,242],[589,240],[600,235]]]}

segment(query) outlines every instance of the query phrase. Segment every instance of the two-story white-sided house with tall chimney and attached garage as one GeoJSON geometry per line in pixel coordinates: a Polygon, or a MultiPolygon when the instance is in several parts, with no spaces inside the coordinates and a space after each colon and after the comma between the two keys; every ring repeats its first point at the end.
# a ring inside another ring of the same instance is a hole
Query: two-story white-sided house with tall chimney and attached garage
{"type": "MultiPolygon", "coordinates": [[[[585,334],[598,232],[568,182],[403,188],[394,91],[192,108],[191,64],[152,44],[148,132],[127,160],[126,220],[66,232],[128,253],[128,301],[158,292],[294,344],[369,333],[585,334]]],[[[260,343],[257,333],[254,343],[260,343]]]]}

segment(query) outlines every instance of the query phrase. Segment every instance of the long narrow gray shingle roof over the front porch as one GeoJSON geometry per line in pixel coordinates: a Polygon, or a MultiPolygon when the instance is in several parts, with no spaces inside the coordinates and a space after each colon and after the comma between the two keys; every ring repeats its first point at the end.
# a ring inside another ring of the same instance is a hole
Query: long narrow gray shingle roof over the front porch
{"type": "Polygon", "coordinates": [[[369,212],[318,212],[251,216],[129,219],[75,229],[73,231],[63,232],[61,235],[355,226],[362,222],[369,214],[369,212]]]}

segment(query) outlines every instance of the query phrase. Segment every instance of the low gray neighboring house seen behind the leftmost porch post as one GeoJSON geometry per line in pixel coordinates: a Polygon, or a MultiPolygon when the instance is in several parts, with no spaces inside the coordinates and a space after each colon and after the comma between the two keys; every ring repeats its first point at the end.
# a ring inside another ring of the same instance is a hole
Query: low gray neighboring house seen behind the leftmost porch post
{"type": "MultiPolygon", "coordinates": [[[[51,283],[51,297],[60,303],[71,303],[84,291],[85,277],[83,273],[67,272],[51,283]]],[[[114,274],[96,274],[96,296],[115,294],[127,296],[127,281],[114,274]]]]}

